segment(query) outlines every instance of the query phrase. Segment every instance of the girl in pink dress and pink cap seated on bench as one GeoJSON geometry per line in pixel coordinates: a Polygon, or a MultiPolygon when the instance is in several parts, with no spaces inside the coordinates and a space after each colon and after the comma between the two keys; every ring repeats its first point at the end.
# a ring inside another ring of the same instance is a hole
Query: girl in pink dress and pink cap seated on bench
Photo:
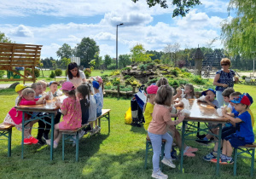
{"type": "MultiPolygon", "coordinates": [[[[61,90],[67,98],[63,100],[63,103],[56,102],[55,105],[61,108],[61,113],[63,114],[63,121],[61,123],[55,124],[55,136],[54,148],[58,147],[58,143],[61,140],[60,130],[76,130],[81,127],[82,113],[79,100],[77,100],[75,95],[75,87],[71,82],[65,82],[62,84],[61,90]]],[[[50,140],[46,140],[46,143],[50,145],[50,140]]]]}

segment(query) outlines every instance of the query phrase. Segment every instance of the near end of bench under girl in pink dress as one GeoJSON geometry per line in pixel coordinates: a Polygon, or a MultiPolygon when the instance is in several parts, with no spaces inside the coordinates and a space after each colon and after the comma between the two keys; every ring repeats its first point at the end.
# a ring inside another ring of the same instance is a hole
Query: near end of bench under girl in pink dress
{"type": "Polygon", "coordinates": [[[60,130],[62,133],[62,159],[65,159],[65,141],[69,141],[67,143],[76,143],[76,161],[79,161],[79,131],[83,130],[84,127],[88,126],[89,124],[83,124],[77,130],[60,130]],[[73,138],[75,136],[75,139],[73,138]],[[72,141],[72,142],[70,142],[72,141]]]}

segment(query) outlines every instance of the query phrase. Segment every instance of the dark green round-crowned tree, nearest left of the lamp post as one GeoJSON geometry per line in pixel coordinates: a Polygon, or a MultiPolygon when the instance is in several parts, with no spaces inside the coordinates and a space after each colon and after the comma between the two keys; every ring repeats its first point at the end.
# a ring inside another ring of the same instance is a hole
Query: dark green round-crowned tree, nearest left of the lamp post
{"type": "Polygon", "coordinates": [[[100,48],[96,45],[94,39],[83,38],[76,47],[76,56],[80,57],[81,65],[89,67],[89,62],[94,59],[94,55],[99,51],[100,48]]]}

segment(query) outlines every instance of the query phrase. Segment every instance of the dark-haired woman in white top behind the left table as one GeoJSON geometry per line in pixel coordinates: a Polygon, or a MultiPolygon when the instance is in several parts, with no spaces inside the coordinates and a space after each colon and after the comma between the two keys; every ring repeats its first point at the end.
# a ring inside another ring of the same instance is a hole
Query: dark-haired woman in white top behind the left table
{"type": "Polygon", "coordinates": [[[72,82],[75,88],[78,88],[80,84],[86,82],[84,72],[79,70],[79,66],[75,62],[67,66],[67,81],[72,82]]]}

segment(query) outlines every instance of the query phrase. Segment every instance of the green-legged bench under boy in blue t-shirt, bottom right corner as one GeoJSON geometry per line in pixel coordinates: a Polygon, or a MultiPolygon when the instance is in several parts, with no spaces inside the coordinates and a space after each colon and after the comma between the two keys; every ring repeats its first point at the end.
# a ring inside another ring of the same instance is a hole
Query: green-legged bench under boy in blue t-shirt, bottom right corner
{"type": "Polygon", "coordinates": [[[235,148],[235,150],[234,150],[234,176],[236,176],[237,156],[240,155],[241,153],[247,153],[251,156],[251,177],[253,177],[255,147],[256,147],[256,143],[254,142],[253,144],[247,144],[245,146],[240,146],[240,147],[235,148]],[[240,150],[241,152],[238,153],[237,149],[240,150]]]}

